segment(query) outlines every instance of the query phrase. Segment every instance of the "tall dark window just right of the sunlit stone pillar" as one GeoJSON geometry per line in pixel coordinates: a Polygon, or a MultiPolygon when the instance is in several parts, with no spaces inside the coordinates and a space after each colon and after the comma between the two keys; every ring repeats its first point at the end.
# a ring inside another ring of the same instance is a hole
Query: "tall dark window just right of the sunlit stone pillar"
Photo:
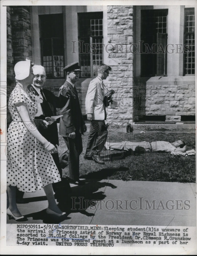
{"type": "Polygon", "coordinates": [[[141,10],[141,76],[165,76],[168,10],[141,10]]]}

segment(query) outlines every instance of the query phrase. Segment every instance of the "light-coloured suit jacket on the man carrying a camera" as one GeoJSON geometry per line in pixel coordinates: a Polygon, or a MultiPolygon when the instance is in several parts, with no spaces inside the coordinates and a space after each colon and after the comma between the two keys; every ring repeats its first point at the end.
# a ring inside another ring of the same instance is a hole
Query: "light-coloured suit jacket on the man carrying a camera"
{"type": "Polygon", "coordinates": [[[94,78],[88,87],[85,97],[86,114],[92,114],[92,120],[105,119],[104,99],[104,85],[100,77],[94,78]]]}

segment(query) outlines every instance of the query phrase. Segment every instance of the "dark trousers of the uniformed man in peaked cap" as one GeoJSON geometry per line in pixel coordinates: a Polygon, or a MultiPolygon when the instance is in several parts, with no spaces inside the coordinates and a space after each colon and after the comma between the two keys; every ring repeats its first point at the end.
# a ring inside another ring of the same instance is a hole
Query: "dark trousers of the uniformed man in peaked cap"
{"type": "Polygon", "coordinates": [[[69,178],[77,181],[79,179],[79,155],[83,150],[81,133],[75,132],[75,138],[63,137],[69,150],[68,168],[69,178]]]}

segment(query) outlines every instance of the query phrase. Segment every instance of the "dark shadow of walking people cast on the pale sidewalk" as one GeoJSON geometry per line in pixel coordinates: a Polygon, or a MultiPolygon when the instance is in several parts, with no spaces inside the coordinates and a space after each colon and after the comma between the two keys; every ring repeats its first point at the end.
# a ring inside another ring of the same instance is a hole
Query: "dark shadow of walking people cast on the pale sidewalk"
{"type": "Polygon", "coordinates": [[[100,182],[99,180],[85,180],[87,183],[83,186],[72,187],[72,193],[67,197],[64,203],[59,203],[58,207],[67,214],[80,212],[86,216],[94,216],[87,210],[96,210],[97,202],[103,200],[106,195],[104,191],[98,191],[101,188],[109,186],[116,188],[115,185],[108,182],[100,182]]]}

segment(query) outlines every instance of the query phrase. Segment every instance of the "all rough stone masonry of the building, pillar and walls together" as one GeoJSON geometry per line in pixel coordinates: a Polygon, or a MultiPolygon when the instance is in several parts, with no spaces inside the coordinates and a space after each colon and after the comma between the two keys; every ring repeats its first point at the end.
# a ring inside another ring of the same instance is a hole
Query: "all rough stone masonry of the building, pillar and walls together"
{"type": "MultiPolygon", "coordinates": [[[[104,53],[107,55],[106,64],[113,70],[104,84],[108,89],[115,90],[113,99],[118,103],[117,109],[107,108],[107,120],[116,120],[118,124],[123,121],[126,124],[134,116],[139,116],[138,111],[143,115],[165,115],[166,120],[177,121],[180,121],[181,115],[195,115],[194,78],[185,76],[173,80],[171,77],[162,77],[158,80],[153,77],[143,83],[133,83],[133,54],[129,52],[129,46],[133,43],[132,6],[107,7],[107,41],[104,43],[107,45],[104,49],[107,50],[104,53]],[[143,84],[144,88],[139,87],[139,84],[143,84]]],[[[15,63],[25,58],[32,59],[30,7],[8,6],[8,80],[13,78],[15,63]]],[[[79,79],[76,86],[82,114],[85,114],[85,95],[90,80],[79,79]]],[[[58,95],[63,83],[64,79],[55,79],[50,82],[48,89],[58,95]]],[[[46,88],[47,84],[49,81],[46,81],[46,88]]]]}

